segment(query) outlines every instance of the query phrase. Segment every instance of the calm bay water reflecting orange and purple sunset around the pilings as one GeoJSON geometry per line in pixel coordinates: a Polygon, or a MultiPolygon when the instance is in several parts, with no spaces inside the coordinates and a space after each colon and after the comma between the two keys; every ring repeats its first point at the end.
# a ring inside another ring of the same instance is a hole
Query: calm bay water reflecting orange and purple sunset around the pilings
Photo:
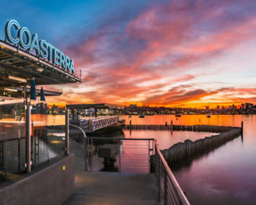
{"type": "MultiPolygon", "coordinates": [[[[64,125],[64,116],[47,115],[53,123],[64,125]],[[58,117],[59,119],[54,119],[58,117]]],[[[158,124],[168,125],[222,125],[241,126],[244,121],[243,137],[210,151],[206,155],[190,160],[177,169],[174,175],[187,193],[191,204],[255,204],[256,196],[256,116],[255,115],[153,115],[139,118],[126,116],[126,124],[158,124]]],[[[196,140],[210,136],[206,133],[189,131],[176,132],[171,135],[168,131],[124,131],[125,137],[155,137],[161,149],[171,147],[178,141],[187,138],[196,140]]],[[[176,171],[175,171],[176,170],[176,171]]]]}

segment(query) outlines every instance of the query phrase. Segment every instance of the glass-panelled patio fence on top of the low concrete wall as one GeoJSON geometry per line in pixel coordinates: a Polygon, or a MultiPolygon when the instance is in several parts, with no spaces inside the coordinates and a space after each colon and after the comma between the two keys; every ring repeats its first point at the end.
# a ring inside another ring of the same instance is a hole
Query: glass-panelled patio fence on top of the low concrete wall
{"type": "MultiPolygon", "coordinates": [[[[11,178],[11,174],[21,174],[26,169],[26,137],[24,131],[20,131],[24,127],[10,126],[8,125],[8,129],[2,126],[5,131],[0,134],[0,181],[11,178]]],[[[45,127],[32,126],[32,130],[30,139],[32,169],[40,163],[49,162],[59,153],[64,153],[62,137],[49,135],[50,130],[45,127]]]]}

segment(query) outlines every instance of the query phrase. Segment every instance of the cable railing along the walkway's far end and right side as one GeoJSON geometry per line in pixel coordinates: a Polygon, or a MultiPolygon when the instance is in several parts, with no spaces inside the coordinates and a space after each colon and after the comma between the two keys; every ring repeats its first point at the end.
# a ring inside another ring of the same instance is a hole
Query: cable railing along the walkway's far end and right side
{"type": "Polygon", "coordinates": [[[155,174],[159,201],[190,204],[154,138],[86,137],[84,134],[75,140],[82,144],[85,171],[155,174]]]}

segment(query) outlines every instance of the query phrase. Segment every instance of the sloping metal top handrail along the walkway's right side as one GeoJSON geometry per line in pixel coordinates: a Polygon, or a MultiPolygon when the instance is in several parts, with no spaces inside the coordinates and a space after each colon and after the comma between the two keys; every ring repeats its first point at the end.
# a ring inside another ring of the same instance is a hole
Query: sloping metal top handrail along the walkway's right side
{"type": "Polygon", "coordinates": [[[187,200],[187,197],[184,195],[184,192],[182,191],[180,185],[178,184],[178,181],[176,180],[176,178],[172,174],[171,169],[169,168],[167,162],[165,161],[164,156],[162,156],[162,153],[159,150],[158,145],[156,144],[156,141],[155,141],[155,150],[158,153],[158,156],[159,156],[160,160],[162,161],[163,166],[165,167],[165,171],[170,176],[171,181],[172,181],[172,183],[174,185],[174,188],[176,189],[176,191],[178,193],[178,197],[181,200],[182,204],[190,205],[190,203],[187,200]]]}

